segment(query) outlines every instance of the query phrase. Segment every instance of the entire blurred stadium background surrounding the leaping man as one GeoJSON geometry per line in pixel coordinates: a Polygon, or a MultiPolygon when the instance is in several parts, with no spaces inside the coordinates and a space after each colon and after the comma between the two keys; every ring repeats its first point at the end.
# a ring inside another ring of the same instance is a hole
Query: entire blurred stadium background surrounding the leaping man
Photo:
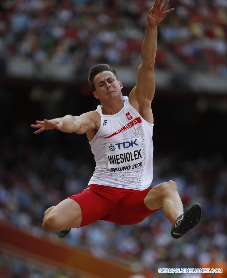
{"type": "Polygon", "coordinates": [[[171,0],[158,26],[152,186],[176,181],[184,208],[202,205],[200,224],[179,240],[162,211],[61,240],[41,227],[48,207],[86,188],[95,163],[85,134],[35,135],[30,124],[94,110],[87,78],[98,63],[116,69],[128,95],[153,3],[0,2],[0,277],[211,277],[158,274],[166,267],[227,277],[227,0],[171,0]]]}

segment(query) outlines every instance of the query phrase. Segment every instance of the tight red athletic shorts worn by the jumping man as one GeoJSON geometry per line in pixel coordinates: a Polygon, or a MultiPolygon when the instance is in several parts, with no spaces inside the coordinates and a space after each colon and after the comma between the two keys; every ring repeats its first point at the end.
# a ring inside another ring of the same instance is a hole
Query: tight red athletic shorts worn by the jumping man
{"type": "Polygon", "coordinates": [[[144,198],[151,189],[152,187],[149,187],[139,191],[90,184],[85,190],[67,198],[80,205],[82,211],[80,227],[97,220],[132,225],[161,209],[150,210],[145,206],[144,198]]]}

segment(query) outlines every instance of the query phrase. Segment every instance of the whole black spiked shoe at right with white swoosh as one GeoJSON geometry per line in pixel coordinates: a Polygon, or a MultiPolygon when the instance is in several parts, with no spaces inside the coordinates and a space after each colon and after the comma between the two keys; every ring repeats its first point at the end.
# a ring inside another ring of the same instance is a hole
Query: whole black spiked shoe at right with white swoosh
{"type": "Polygon", "coordinates": [[[183,234],[199,223],[201,214],[202,208],[200,204],[194,204],[190,208],[187,208],[175,221],[171,230],[171,236],[173,238],[182,237],[183,234]]]}

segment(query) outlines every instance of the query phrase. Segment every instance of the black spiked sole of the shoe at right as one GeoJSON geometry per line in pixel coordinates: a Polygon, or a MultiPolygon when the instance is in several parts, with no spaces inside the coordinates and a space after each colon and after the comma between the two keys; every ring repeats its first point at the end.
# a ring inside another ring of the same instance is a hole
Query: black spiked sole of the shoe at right
{"type": "MultiPolygon", "coordinates": [[[[190,208],[188,208],[184,213],[185,225],[187,225],[187,230],[184,231],[184,234],[190,229],[194,228],[200,221],[202,214],[202,208],[200,204],[193,204],[190,208]]],[[[171,231],[171,235],[173,238],[180,238],[182,235],[174,235],[174,231],[171,231]]]]}

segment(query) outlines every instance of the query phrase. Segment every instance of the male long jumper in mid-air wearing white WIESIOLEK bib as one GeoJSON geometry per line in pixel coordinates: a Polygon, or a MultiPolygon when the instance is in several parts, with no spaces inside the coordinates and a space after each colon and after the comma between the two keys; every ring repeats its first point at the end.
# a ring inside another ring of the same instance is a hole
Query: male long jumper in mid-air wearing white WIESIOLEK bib
{"type": "Polygon", "coordinates": [[[109,65],[95,65],[88,81],[101,105],[81,116],[66,115],[53,120],[36,121],[35,133],[57,128],[62,132],[86,132],[96,167],[88,187],[69,196],[44,213],[43,229],[57,231],[64,237],[71,228],[97,220],[132,225],[162,208],[173,225],[171,235],[180,238],[201,217],[201,207],[194,204],[183,212],[174,181],[149,187],[153,179],[153,114],[155,92],[154,61],[157,48],[157,25],[166,14],[166,0],[156,0],[148,11],[142,62],[137,83],[129,97],[121,93],[122,82],[109,65]]]}

